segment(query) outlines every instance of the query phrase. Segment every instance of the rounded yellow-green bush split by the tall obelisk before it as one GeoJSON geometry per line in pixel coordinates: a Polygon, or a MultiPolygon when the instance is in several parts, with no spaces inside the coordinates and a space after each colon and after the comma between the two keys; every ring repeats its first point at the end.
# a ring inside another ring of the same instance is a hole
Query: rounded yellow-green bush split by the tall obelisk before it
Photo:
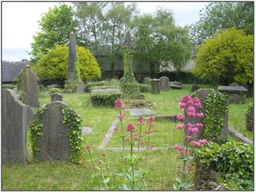
{"type": "MultiPolygon", "coordinates": [[[[80,77],[82,80],[101,77],[102,72],[96,58],[87,48],[77,46],[80,64],[80,77]]],[[[69,61],[69,48],[66,45],[55,45],[46,54],[43,54],[34,71],[41,80],[55,80],[67,78],[67,66],[69,61]]]]}

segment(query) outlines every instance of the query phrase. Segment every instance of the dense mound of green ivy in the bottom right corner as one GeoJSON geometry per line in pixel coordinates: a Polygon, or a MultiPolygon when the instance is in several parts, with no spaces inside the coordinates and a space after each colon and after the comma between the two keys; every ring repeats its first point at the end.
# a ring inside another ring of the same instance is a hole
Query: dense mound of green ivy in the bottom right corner
{"type": "MultiPolygon", "coordinates": [[[[202,183],[202,187],[208,189],[210,170],[221,174],[222,183],[229,184],[235,180],[234,189],[230,190],[252,190],[254,176],[254,156],[251,145],[243,142],[227,142],[224,145],[209,143],[203,148],[195,151],[193,158],[196,164],[196,183],[202,183]],[[252,186],[251,186],[252,185],[252,186]]],[[[233,184],[233,185],[234,185],[233,184]]]]}

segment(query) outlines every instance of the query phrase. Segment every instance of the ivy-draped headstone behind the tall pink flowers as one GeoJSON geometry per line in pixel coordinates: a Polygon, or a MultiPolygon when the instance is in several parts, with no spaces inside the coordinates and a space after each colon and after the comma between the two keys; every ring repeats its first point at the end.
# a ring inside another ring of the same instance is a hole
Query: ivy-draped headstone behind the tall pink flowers
{"type": "MultiPolygon", "coordinates": [[[[199,89],[193,92],[202,104],[203,118],[190,118],[185,116],[187,123],[202,122],[203,127],[199,133],[193,133],[193,140],[207,139],[210,142],[223,143],[228,136],[228,100],[225,95],[213,89],[199,89]]],[[[184,130],[186,133],[187,130],[184,130]]]]}

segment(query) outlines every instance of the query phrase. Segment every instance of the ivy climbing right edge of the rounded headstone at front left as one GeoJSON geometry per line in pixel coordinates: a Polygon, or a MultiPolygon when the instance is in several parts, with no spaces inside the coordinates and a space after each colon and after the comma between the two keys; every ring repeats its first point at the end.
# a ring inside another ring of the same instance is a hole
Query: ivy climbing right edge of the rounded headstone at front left
{"type": "Polygon", "coordinates": [[[68,127],[69,148],[72,155],[70,160],[72,162],[81,162],[83,138],[81,136],[81,117],[75,113],[74,110],[63,106],[63,124],[68,127]]]}

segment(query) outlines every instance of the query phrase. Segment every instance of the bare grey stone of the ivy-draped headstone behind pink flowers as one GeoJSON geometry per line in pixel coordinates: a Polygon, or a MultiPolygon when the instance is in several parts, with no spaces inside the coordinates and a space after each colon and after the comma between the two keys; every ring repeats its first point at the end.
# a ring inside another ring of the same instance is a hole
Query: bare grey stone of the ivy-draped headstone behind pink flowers
{"type": "MultiPolygon", "coordinates": [[[[191,96],[196,96],[197,98],[199,98],[199,100],[201,101],[202,104],[202,113],[204,113],[205,115],[205,107],[204,107],[204,103],[205,103],[205,99],[207,98],[207,95],[209,95],[209,93],[212,91],[213,89],[199,89],[196,92],[193,92],[193,94],[191,96]]],[[[216,92],[216,91],[214,91],[216,92]]],[[[217,95],[222,95],[220,92],[216,92],[217,95]]],[[[225,103],[226,106],[228,106],[228,101],[226,101],[225,103]]],[[[187,117],[186,112],[184,112],[185,114],[185,124],[187,123],[195,123],[195,122],[203,122],[203,118],[191,118],[191,117],[187,117]]],[[[204,129],[204,127],[202,127],[202,130],[204,129]]],[[[184,133],[187,135],[187,130],[184,130],[184,133]]],[[[193,133],[192,137],[193,140],[198,140],[200,138],[200,134],[201,134],[201,130],[199,130],[199,133],[193,133]]],[[[228,137],[228,113],[225,114],[225,116],[223,117],[223,127],[222,127],[222,131],[221,131],[221,135],[219,136],[220,139],[222,139],[223,141],[225,141],[228,137]]],[[[209,141],[211,141],[210,139],[208,139],[209,141]]]]}

